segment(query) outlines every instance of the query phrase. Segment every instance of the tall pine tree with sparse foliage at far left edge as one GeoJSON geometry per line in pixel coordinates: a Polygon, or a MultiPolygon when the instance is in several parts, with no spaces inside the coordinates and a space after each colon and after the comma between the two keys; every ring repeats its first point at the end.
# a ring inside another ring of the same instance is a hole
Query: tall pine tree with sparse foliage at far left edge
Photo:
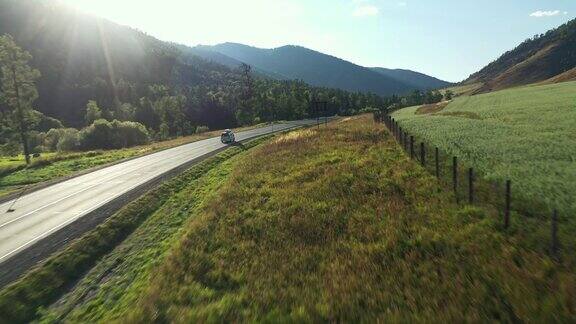
{"type": "Polygon", "coordinates": [[[20,135],[27,164],[28,130],[34,122],[32,104],[38,98],[35,81],[40,77],[40,72],[28,65],[31,59],[10,35],[0,36],[0,100],[8,110],[7,122],[20,135]]]}

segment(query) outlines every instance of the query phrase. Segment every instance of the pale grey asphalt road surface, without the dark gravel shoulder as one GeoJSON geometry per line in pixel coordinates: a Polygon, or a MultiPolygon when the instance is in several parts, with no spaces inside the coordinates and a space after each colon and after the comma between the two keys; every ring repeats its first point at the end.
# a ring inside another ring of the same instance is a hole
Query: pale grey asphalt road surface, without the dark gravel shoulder
{"type": "MultiPolygon", "coordinates": [[[[315,123],[304,120],[236,134],[242,141],[315,123]]],[[[191,160],[225,145],[210,138],[103,168],[0,205],[0,263],[113,199],[191,160]]]]}

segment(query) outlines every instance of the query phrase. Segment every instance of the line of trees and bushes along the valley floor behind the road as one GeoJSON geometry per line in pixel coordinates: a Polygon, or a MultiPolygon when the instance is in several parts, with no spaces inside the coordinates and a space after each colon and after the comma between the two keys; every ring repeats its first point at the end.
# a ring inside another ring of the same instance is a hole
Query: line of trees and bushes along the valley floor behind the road
{"type": "Polygon", "coordinates": [[[32,56],[9,35],[0,37],[0,150],[22,151],[26,161],[40,151],[121,148],[208,129],[352,115],[364,107],[383,107],[390,99],[373,94],[311,87],[302,81],[254,77],[248,65],[218,67],[224,77],[213,84],[147,84],[95,78],[92,98],[81,120],[60,121],[36,110],[41,73],[32,56]],[[326,101],[316,111],[313,101],[326,101]],[[65,127],[65,124],[78,125],[65,127]]]}

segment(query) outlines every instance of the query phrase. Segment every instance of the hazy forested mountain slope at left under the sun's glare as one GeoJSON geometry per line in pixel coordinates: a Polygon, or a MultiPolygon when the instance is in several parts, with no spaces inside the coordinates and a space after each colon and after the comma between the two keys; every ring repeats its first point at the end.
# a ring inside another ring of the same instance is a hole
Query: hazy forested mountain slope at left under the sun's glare
{"type": "MultiPolygon", "coordinates": [[[[0,34],[33,56],[38,109],[81,126],[88,100],[109,109],[137,103],[152,84],[209,85],[231,72],[144,33],[49,1],[1,0],[0,34]]],[[[232,74],[233,75],[233,74],[232,74]]]]}

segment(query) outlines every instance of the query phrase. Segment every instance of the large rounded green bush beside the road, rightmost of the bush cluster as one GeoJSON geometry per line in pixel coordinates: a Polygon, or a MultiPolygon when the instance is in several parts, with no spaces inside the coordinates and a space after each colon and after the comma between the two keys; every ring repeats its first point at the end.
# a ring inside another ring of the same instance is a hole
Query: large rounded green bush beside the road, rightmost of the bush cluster
{"type": "Polygon", "coordinates": [[[80,131],[80,147],[85,150],[117,149],[146,144],[148,130],[137,122],[109,122],[99,119],[80,131]]]}

